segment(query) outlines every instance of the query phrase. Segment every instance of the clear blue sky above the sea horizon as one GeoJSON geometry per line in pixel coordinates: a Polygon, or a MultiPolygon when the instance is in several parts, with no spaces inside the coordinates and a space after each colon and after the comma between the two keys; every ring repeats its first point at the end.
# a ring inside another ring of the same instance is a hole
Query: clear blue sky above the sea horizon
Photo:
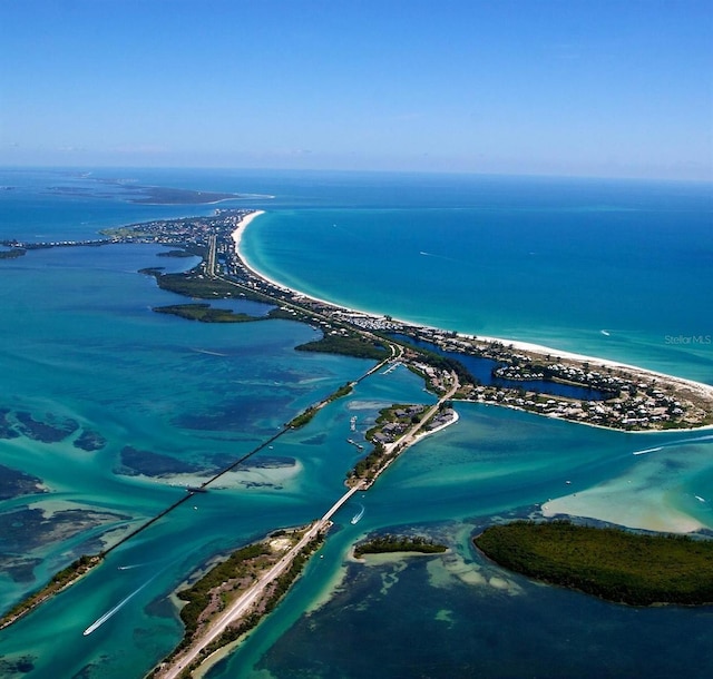
{"type": "Polygon", "coordinates": [[[0,0],[0,165],[713,180],[713,0],[0,0]]]}

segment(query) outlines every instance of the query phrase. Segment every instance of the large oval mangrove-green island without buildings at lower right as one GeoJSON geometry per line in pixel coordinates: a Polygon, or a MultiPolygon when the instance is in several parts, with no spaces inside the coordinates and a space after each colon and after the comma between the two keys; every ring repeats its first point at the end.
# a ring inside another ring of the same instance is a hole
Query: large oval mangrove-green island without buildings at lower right
{"type": "Polygon", "coordinates": [[[607,601],[713,602],[713,540],[516,521],[490,527],[473,542],[509,570],[607,601]]]}

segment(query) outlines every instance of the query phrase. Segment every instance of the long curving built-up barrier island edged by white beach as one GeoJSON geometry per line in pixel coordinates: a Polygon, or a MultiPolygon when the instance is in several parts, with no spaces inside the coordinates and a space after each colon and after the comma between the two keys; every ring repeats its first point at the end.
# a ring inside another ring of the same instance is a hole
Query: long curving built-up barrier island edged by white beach
{"type": "MultiPolygon", "coordinates": [[[[43,247],[150,243],[182,248],[202,257],[185,274],[145,269],[162,288],[201,299],[244,297],[275,306],[270,318],[291,318],[320,329],[323,338],[299,347],[380,360],[388,347],[427,377],[456,371],[456,400],[501,405],[572,422],[625,431],[697,429],[713,425],[713,386],[522,342],[479,337],[397,321],[316,299],[284,287],[253,270],[241,257],[245,226],[262,213],[217,209],[206,217],[159,219],[105,229],[102,238],[58,243],[0,243],[12,256],[43,247]],[[491,365],[487,378],[473,376],[463,363],[491,365]],[[561,393],[561,386],[575,387],[561,393]]],[[[174,305],[157,308],[184,318],[241,322],[247,318],[225,309],[174,305]]],[[[264,317],[261,317],[264,319],[264,317]]],[[[255,318],[257,319],[257,318],[255,318]]]]}

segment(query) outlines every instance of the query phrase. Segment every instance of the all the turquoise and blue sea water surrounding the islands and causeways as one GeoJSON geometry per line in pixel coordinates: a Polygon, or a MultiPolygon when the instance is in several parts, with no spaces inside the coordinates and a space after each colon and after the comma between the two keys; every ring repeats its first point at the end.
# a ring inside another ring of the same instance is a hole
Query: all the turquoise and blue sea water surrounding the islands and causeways
{"type": "MultiPolygon", "coordinates": [[[[92,238],[105,226],[215,208],[130,204],[97,176],[247,195],[226,205],[267,210],[243,240],[250,260],[316,296],[713,383],[704,341],[713,334],[710,187],[3,171],[0,185],[14,188],[0,194],[0,239],[92,238]]],[[[189,265],[157,258],[160,249],[56,248],[0,260],[0,412],[65,427],[51,442],[41,427],[0,439],[0,464],[47,491],[0,500],[3,610],[371,366],[295,352],[316,336],[305,325],[205,325],[153,313],[179,297],[138,269],[189,265]],[[102,436],[100,450],[75,445],[87,431],[102,436]]],[[[406,368],[369,377],[253,459],[263,464],[251,461],[111,552],[0,632],[0,676],[141,677],[180,638],[172,590],[215,554],[320,515],[358,460],[346,439],[359,441],[387,404],[431,402],[422,386],[406,368]]],[[[473,404],[458,412],[456,425],[409,450],[338,514],[323,558],[209,676],[710,675],[710,608],[628,609],[534,585],[484,562],[469,539],[543,505],[633,527],[713,530],[711,433],[634,435],[473,404]],[[644,450],[652,452],[633,454],[644,450]],[[427,533],[450,551],[350,561],[353,542],[380,530],[427,533]]]]}

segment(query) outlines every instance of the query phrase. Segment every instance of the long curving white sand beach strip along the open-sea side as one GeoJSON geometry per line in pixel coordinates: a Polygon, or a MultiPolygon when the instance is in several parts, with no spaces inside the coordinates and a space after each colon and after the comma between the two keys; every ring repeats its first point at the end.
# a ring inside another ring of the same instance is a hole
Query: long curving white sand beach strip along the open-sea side
{"type": "MultiPolygon", "coordinates": [[[[351,308],[348,306],[342,306],[341,304],[338,304],[335,302],[331,302],[329,299],[322,299],[320,297],[315,297],[314,295],[307,295],[306,293],[303,293],[302,291],[297,291],[295,288],[289,287],[273,278],[270,278],[270,276],[266,276],[263,272],[256,269],[253,265],[251,265],[247,259],[244,256],[244,253],[241,252],[240,249],[240,245],[241,245],[241,240],[243,238],[243,234],[245,232],[245,228],[247,228],[247,226],[257,217],[260,217],[261,215],[264,215],[265,211],[264,210],[257,210],[255,213],[251,213],[250,215],[247,215],[246,217],[244,217],[240,224],[238,224],[238,228],[233,233],[233,240],[235,242],[235,248],[237,252],[238,257],[242,259],[243,264],[245,265],[246,268],[248,268],[253,274],[255,274],[255,276],[262,278],[263,281],[266,281],[267,283],[274,285],[275,287],[279,287],[281,289],[284,291],[289,291],[294,295],[299,295],[301,297],[304,297],[305,299],[312,299],[314,302],[319,302],[320,304],[326,304],[329,306],[333,306],[335,308],[340,308],[343,309],[348,313],[352,313],[352,314],[363,314],[367,316],[375,316],[375,317],[381,317],[383,316],[383,314],[375,314],[373,312],[365,312],[362,309],[356,309],[356,308],[351,308]]],[[[408,326],[412,326],[412,327],[429,327],[430,329],[441,329],[441,328],[437,328],[437,327],[432,327],[432,326],[426,326],[426,325],[421,325],[418,323],[412,323],[410,321],[403,321],[402,318],[393,318],[394,322],[397,323],[401,323],[403,325],[408,325],[408,326]]],[[[696,382],[694,380],[687,380],[685,377],[677,377],[675,375],[668,375],[666,373],[660,373],[656,371],[652,371],[645,367],[641,367],[637,365],[631,365],[628,363],[622,363],[619,361],[613,361],[611,358],[600,358],[597,356],[587,356],[585,354],[576,354],[574,352],[566,352],[566,351],[560,351],[557,348],[551,348],[549,346],[543,346],[540,344],[534,344],[530,342],[520,342],[520,341],[515,341],[515,340],[506,340],[502,337],[491,337],[491,336],[487,336],[487,335],[469,335],[466,333],[458,333],[459,337],[463,337],[463,338],[469,338],[469,340],[478,340],[478,341],[482,341],[482,342],[498,342],[505,346],[512,346],[512,348],[517,350],[517,351],[521,351],[521,352],[531,352],[535,354],[541,354],[541,355],[550,355],[550,356],[555,356],[555,357],[559,357],[559,358],[564,358],[564,360],[569,360],[569,361],[577,361],[579,363],[590,363],[593,364],[593,368],[594,366],[604,366],[604,367],[611,367],[611,368],[615,368],[615,370],[627,370],[627,371],[633,371],[642,376],[651,376],[651,377],[655,377],[655,378],[664,378],[667,380],[672,383],[675,383],[680,386],[685,386],[688,387],[691,390],[694,390],[696,393],[699,393],[702,397],[704,398],[713,398],[713,385],[710,384],[705,384],[703,382],[696,382]]],[[[704,427],[694,427],[696,430],[699,429],[704,429],[704,427]]],[[[705,427],[707,429],[707,427],[705,427]]]]}

